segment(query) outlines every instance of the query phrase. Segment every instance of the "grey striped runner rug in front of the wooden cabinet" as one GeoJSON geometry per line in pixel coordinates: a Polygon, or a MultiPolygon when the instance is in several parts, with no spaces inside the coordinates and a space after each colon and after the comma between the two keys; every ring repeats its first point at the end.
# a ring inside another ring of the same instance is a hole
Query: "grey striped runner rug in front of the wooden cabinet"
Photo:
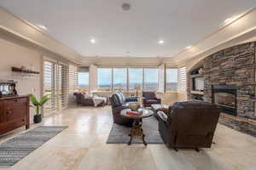
{"type": "Polygon", "coordinates": [[[40,126],[0,144],[0,166],[13,166],[67,126],[40,126]]]}

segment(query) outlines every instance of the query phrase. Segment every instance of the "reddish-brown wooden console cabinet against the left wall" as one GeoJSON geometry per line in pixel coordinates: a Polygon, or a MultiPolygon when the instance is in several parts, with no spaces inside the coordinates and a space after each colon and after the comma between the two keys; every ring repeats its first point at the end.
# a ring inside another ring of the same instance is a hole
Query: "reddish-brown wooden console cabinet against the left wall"
{"type": "Polygon", "coordinates": [[[22,126],[29,128],[29,96],[0,98],[0,134],[22,126]]]}

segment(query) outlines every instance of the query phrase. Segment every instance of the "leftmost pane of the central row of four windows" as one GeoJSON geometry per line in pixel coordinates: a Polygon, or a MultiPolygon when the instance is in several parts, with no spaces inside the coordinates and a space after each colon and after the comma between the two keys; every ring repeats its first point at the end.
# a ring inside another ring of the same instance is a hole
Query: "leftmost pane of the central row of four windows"
{"type": "Polygon", "coordinates": [[[98,69],[98,88],[103,91],[112,90],[112,69],[99,68],[98,69]]]}

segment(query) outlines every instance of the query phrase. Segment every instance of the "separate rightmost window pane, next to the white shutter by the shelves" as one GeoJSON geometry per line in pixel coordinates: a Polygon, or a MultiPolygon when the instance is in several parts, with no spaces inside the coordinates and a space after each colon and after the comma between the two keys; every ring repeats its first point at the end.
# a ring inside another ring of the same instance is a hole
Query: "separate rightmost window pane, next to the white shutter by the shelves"
{"type": "Polygon", "coordinates": [[[166,69],[166,91],[177,91],[177,69],[166,69]]]}

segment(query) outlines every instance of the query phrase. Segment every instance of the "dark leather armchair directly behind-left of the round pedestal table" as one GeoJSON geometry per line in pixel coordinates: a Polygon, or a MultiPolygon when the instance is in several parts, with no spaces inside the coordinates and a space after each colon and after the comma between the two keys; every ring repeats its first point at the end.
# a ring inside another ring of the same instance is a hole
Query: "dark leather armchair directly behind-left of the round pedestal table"
{"type": "Polygon", "coordinates": [[[133,120],[120,115],[122,110],[127,109],[125,101],[120,98],[119,94],[113,94],[109,98],[112,106],[113,122],[119,125],[131,127],[133,120]]]}

